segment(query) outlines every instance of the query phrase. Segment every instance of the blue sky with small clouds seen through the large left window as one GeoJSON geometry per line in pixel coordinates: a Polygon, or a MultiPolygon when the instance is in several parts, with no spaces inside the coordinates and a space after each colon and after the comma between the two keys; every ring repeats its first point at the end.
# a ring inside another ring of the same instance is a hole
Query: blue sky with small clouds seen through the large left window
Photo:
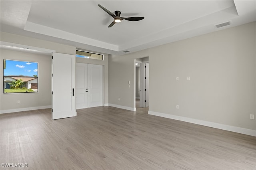
{"type": "Polygon", "coordinates": [[[38,63],[27,61],[6,60],[4,75],[38,76],[38,63]]]}

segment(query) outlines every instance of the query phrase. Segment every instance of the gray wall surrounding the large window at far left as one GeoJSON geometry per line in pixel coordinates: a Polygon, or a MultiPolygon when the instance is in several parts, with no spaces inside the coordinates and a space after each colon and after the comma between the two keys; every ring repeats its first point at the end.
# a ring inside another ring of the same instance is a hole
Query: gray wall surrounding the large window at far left
{"type": "MultiPolygon", "coordinates": [[[[3,59],[11,59],[18,61],[38,62],[38,93],[3,93],[3,78],[0,79],[1,89],[1,111],[44,107],[52,105],[51,94],[51,73],[52,73],[52,58],[51,55],[42,55],[35,53],[26,53],[21,51],[11,51],[1,49],[1,69],[3,68],[3,59]],[[20,103],[17,103],[17,100],[20,103]]],[[[1,70],[3,77],[3,70],[1,70]]]]}

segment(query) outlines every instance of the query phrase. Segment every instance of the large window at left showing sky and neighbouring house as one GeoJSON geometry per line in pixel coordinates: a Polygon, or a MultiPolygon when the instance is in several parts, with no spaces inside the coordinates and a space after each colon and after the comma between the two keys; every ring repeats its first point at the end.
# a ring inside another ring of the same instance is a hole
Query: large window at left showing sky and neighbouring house
{"type": "Polygon", "coordinates": [[[38,63],[4,59],[4,93],[38,92],[38,63]]]}

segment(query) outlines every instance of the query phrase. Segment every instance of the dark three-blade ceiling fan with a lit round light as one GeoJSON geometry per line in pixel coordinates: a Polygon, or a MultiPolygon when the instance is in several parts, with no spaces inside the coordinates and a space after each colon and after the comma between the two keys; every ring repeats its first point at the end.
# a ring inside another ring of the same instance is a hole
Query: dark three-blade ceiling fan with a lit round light
{"type": "Polygon", "coordinates": [[[123,18],[120,17],[121,12],[120,11],[115,11],[114,15],[112,12],[110,12],[109,10],[107,10],[106,8],[104,8],[103,6],[101,6],[100,4],[98,4],[98,6],[100,8],[102,8],[102,10],[106,11],[106,13],[108,13],[110,16],[112,16],[114,18],[114,21],[108,26],[108,28],[114,26],[114,24],[121,22],[122,20],[128,20],[128,21],[140,21],[144,19],[144,16],[139,17],[139,16],[135,16],[135,17],[128,17],[128,18],[123,18]]]}

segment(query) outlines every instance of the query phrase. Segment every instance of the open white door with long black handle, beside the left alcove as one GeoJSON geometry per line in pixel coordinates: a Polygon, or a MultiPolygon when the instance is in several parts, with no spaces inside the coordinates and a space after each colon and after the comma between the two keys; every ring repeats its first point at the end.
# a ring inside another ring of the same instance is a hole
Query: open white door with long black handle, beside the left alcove
{"type": "Polygon", "coordinates": [[[52,119],[76,116],[75,56],[52,53],[52,119]]]}

